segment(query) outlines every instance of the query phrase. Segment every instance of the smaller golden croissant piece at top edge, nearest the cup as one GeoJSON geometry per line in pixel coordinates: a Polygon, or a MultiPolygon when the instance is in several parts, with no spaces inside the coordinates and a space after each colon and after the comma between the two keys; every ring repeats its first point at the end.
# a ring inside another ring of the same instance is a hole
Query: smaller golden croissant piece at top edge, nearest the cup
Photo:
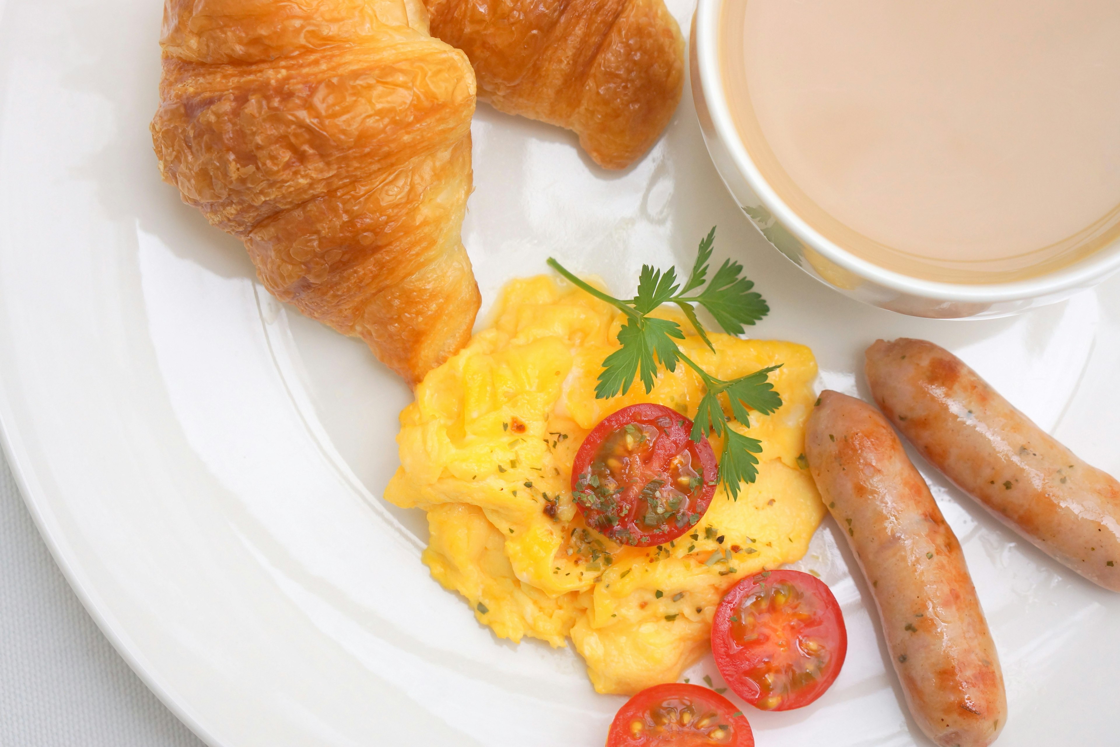
{"type": "Polygon", "coordinates": [[[599,166],[647,151],[681,100],[684,39],[662,0],[424,0],[478,97],[575,130],[599,166]]]}

